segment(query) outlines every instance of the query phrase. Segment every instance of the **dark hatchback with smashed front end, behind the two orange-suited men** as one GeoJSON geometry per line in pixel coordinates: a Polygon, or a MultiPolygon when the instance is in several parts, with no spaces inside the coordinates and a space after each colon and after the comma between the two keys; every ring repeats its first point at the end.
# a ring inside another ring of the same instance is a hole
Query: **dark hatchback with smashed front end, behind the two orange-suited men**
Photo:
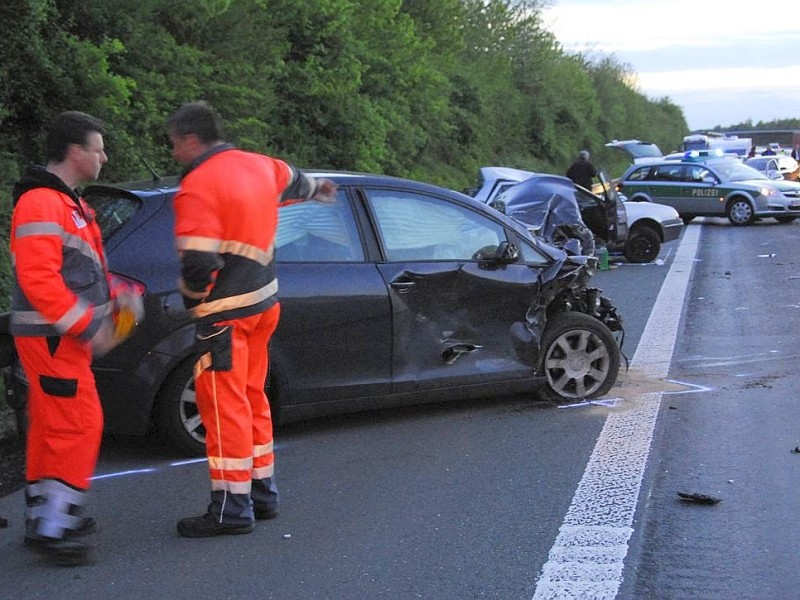
{"type": "MultiPolygon", "coordinates": [[[[278,423],[499,394],[573,401],[614,385],[622,322],[588,285],[596,258],[458,192],[312,174],[339,191],[333,204],[280,209],[282,314],[267,381],[278,423]]],[[[144,321],[93,369],[107,432],[158,431],[202,453],[194,327],[177,291],[175,190],[174,180],[85,190],[110,269],[146,289],[144,321]]],[[[24,374],[11,371],[9,389],[24,394],[24,374]]]]}

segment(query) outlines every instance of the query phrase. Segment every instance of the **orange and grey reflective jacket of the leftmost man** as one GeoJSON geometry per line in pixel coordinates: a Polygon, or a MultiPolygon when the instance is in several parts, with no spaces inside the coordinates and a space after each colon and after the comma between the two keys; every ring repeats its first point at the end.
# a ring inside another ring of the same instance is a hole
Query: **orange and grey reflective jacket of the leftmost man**
{"type": "Polygon", "coordinates": [[[100,228],[77,196],[51,187],[32,187],[19,196],[11,262],[12,335],[88,340],[111,314],[100,228]]]}

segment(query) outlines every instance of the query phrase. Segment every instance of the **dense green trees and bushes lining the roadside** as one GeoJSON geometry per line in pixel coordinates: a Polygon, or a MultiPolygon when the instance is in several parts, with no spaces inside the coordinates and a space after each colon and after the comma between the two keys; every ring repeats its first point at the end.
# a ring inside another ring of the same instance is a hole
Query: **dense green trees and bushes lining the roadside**
{"type": "Polygon", "coordinates": [[[106,122],[107,181],[175,174],[164,124],[198,99],[243,148],[454,189],[484,165],[561,173],[583,148],[619,175],[613,138],[678,147],[682,109],[613,56],[566,53],[546,1],[6,0],[0,309],[10,189],[62,110],[106,122]]]}

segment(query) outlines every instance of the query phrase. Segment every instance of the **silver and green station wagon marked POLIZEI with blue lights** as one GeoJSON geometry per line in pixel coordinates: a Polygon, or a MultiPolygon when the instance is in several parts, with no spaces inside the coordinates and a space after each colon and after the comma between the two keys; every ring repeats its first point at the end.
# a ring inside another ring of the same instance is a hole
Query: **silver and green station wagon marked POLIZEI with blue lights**
{"type": "Polygon", "coordinates": [[[729,157],[687,152],[677,160],[634,164],[619,187],[630,201],[672,206],[684,223],[697,216],[727,217],[734,225],[800,217],[800,183],[771,180],[729,157]]]}

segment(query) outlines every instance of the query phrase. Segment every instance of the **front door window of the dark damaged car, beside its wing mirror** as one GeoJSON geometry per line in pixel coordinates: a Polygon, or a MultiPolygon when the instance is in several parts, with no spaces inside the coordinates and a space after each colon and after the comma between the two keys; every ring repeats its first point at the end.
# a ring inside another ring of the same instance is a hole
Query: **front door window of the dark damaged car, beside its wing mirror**
{"type": "Polygon", "coordinates": [[[378,189],[367,197],[390,262],[477,260],[507,239],[499,223],[444,198],[378,189]]]}

